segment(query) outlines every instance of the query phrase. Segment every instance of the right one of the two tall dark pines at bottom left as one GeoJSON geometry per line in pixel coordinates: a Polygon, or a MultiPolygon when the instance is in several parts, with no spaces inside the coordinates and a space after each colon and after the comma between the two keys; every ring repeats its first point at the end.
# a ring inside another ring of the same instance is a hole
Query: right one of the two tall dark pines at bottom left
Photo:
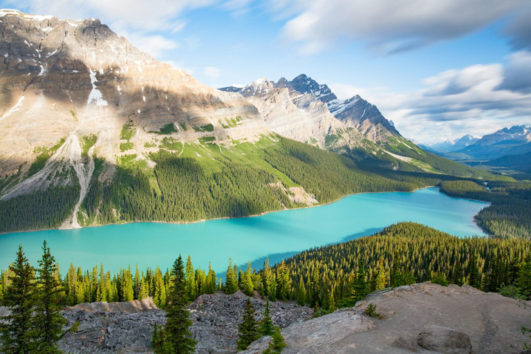
{"type": "Polygon", "coordinates": [[[38,262],[38,292],[35,317],[33,318],[33,326],[37,333],[35,351],[42,354],[58,354],[63,352],[57,348],[57,342],[64,335],[63,327],[68,322],[61,315],[62,306],[59,303],[59,292],[62,286],[54,277],[57,268],[46,241],[44,241],[42,250],[42,259],[38,262]]]}

